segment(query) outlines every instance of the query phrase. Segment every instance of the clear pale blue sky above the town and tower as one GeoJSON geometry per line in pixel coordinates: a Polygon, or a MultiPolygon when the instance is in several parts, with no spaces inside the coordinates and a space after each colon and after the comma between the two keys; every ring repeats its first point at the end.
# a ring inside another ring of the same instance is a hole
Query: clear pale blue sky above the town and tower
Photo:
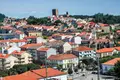
{"type": "Polygon", "coordinates": [[[14,18],[52,16],[54,8],[59,14],[120,15],[120,0],[0,0],[0,13],[14,18]]]}

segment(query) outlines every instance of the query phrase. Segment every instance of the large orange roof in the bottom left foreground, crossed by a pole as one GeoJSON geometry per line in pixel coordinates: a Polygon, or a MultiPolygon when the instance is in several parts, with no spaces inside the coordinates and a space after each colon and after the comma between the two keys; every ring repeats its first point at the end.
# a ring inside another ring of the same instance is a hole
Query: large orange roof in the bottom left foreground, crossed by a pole
{"type": "MultiPolygon", "coordinates": [[[[48,68],[47,69],[48,77],[53,77],[53,76],[59,76],[59,75],[64,75],[66,73],[55,70],[53,68],[48,68]]],[[[27,71],[25,73],[19,74],[19,75],[13,75],[13,76],[7,76],[4,77],[4,80],[38,80],[38,79],[43,79],[46,77],[46,69],[38,69],[38,70],[31,70],[27,71]]]]}

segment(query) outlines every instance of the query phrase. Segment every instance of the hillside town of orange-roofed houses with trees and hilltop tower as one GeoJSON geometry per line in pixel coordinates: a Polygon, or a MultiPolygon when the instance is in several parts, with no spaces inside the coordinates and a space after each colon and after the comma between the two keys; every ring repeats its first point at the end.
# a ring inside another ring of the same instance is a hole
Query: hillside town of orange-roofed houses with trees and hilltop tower
{"type": "Polygon", "coordinates": [[[51,13],[0,14],[0,80],[120,80],[120,16],[51,13]]]}

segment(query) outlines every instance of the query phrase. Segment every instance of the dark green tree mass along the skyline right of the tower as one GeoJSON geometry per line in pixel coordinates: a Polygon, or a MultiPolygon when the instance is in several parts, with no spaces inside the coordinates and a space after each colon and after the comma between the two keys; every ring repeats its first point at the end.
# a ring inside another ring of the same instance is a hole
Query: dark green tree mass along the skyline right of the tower
{"type": "Polygon", "coordinates": [[[94,22],[100,22],[105,24],[115,24],[120,23],[120,15],[110,15],[110,14],[103,14],[103,13],[97,13],[95,15],[89,16],[89,15],[71,15],[71,17],[74,17],[76,19],[88,19],[93,18],[94,22]]]}

